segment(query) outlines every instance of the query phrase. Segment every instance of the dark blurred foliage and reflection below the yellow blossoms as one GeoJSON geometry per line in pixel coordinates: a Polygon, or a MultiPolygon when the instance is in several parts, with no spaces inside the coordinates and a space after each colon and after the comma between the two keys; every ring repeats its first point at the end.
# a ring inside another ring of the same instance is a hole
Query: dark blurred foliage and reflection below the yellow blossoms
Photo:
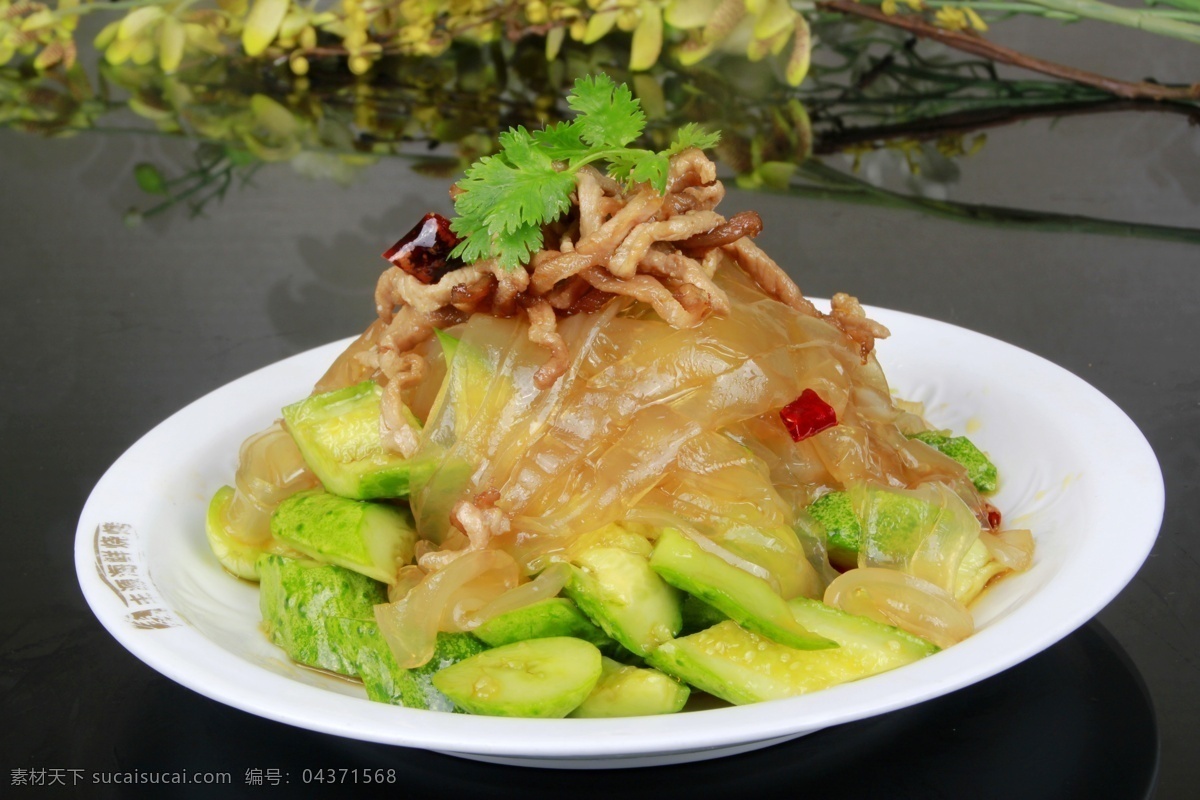
{"type": "MultiPolygon", "coordinates": [[[[10,20],[19,18],[11,13],[17,5],[0,0],[0,18],[5,7],[10,20]]],[[[300,19],[299,6],[284,4],[275,34],[265,44],[254,40],[262,44],[254,55],[259,44],[246,42],[246,32],[262,13],[260,0],[248,10],[245,0],[222,0],[216,11],[186,0],[107,5],[109,11],[124,8],[126,16],[98,28],[98,49],[84,49],[90,56],[71,49],[67,34],[74,28],[26,44],[24,55],[8,53],[0,67],[0,125],[50,137],[140,131],[194,142],[188,164],[138,164],[133,179],[146,201],[130,210],[131,224],[172,209],[202,213],[275,163],[344,184],[379,158],[402,157],[414,169],[449,181],[493,151],[498,132],[566,116],[563,97],[574,79],[606,72],[629,83],[642,102],[649,120],[646,136],[654,146],[665,146],[685,122],[720,130],[716,157],[726,178],[743,188],[916,209],[968,223],[1200,241],[1192,229],[961,204],[936,191],[955,180],[960,162],[986,145],[989,128],[1126,109],[1200,121],[1195,102],[1128,101],[1080,83],[1015,79],[989,59],[853,16],[816,14],[811,25],[804,23],[805,35],[820,44],[803,82],[797,82],[794,49],[787,48],[767,48],[754,59],[740,46],[680,58],[684,49],[678,44],[666,56],[656,53],[653,61],[638,64],[642,23],[634,25],[628,16],[622,22],[618,14],[611,30],[593,37],[586,29],[598,12],[588,4],[571,6],[590,10],[584,17],[564,17],[556,10],[565,6],[546,6],[546,22],[538,23],[544,29],[534,34],[522,29],[503,35],[496,26],[511,18],[500,16],[488,17],[486,31],[478,25],[472,35],[438,40],[438,47],[372,49],[370,68],[361,71],[349,50],[337,49],[342,46],[325,56],[314,54],[328,38],[322,25],[329,20],[322,14],[332,13],[312,11],[317,6],[304,12],[316,16],[300,19]],[[574,29],[558,24],[569,18],[576,20],[574,29]],[[218,20],[220,30],[214,31],[216,23],[198,20],[218,20]],[[557,42],[556,30],[564,31],[557,42]],[[232,43],[236,36],[245,43],[232,43]],[[56,60],[44,58],[55,43],[62,46],[56,60]],[[180,47],[184,55],[176,59],[180,47]],[[296,48],[313,55],[302,56],[301,68],[296,48]],[[860,175],[859,160],[881,151],[907,173],[912,191],[889,191],[860,175]],[[850,169],[834,169],[822,160],[834,154],[844,154],[850,169]]],[[[406,0],[400,7],[445,7],[476,19],[470,14],[493,5],[406,0]]],[[[520,19],[541,19],[541,12],[532,10],[535,5],[520,4],[520,19]]],[[[649,5],[680,30],[695,30],[686,28],[695,20],[680,17],[679,4],[625,2],[620,13],[637,12],[642,19],[649,5]]],[[[707,10],[707,24],[726,5],[695,4],[707,10]]],[[[92,6],[71,7],[86,12],[92,6]]],[[[359,6],[341,7],[349,13],[359,6]]],[[[794,46],[796,20],[804,17],[788,19],[794,46]]],[[[366,43],[376,38],[372,34],[366,43]]],[[[0,59],[6,53],[0,52],[0,59]]]]}

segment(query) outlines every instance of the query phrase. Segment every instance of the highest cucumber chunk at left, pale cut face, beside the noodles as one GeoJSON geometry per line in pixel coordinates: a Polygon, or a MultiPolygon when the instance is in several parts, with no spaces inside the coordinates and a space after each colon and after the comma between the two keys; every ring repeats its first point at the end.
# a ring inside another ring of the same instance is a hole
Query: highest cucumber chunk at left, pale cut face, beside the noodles
{"type": "MultiPolygon", "coordinates": [[[[383,389],[373,380],[313,395],[283,409],[288,433],[325,489],[354,500],[400,498],[433,467],[404,458],[379,441],[383,389]]],[[[412,411],[408,421],[420,428],[412,411]]]]}

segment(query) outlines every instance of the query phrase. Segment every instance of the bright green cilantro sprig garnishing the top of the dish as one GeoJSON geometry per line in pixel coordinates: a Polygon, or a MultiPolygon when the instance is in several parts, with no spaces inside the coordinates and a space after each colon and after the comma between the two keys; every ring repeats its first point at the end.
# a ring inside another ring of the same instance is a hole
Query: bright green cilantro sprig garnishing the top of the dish
{"type": "Polygon", "coordinates": [[[575,173],[583,166],[607,162],[613,179],[666,193],[670,157],[712,148],[720,138],[689,124],[666,150],[630,148],[646,114],[629,86],[604,74],[576,80],[566,104],[576,113],[570,122],[533,132],[511,128],[500,134],[499,152],[467,169],[455,199],[458,216],[450,223],[462,236],[454,255],[468,263],[496,258],[504,269],[516,269],[541,249],[541,227],[570,209],[575,173]]]}

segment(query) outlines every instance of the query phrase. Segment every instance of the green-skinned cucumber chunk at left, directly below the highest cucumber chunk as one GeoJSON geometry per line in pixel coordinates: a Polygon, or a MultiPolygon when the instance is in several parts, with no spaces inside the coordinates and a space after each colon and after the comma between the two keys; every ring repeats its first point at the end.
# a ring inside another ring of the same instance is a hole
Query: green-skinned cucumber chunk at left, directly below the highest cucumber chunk
{"type": "Polygon", "coordinates": [[[329,494],[300,492],[271,515],[271,534],[305,555],[396,583],[413,560],[416,529],[407,510],[329,494]]]}

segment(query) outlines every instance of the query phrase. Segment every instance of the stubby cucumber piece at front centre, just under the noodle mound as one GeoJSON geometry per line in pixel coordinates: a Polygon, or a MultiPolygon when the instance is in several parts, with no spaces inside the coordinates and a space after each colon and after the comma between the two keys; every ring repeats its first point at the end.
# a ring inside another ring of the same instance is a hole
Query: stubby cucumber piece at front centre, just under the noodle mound
{"type": "Polygon", "coordinates": [[[625,649],[644,656],[682,630],[679,593],[643,557],[620,547],[593,547],[575,563],[566,596],[625,649]]]}

